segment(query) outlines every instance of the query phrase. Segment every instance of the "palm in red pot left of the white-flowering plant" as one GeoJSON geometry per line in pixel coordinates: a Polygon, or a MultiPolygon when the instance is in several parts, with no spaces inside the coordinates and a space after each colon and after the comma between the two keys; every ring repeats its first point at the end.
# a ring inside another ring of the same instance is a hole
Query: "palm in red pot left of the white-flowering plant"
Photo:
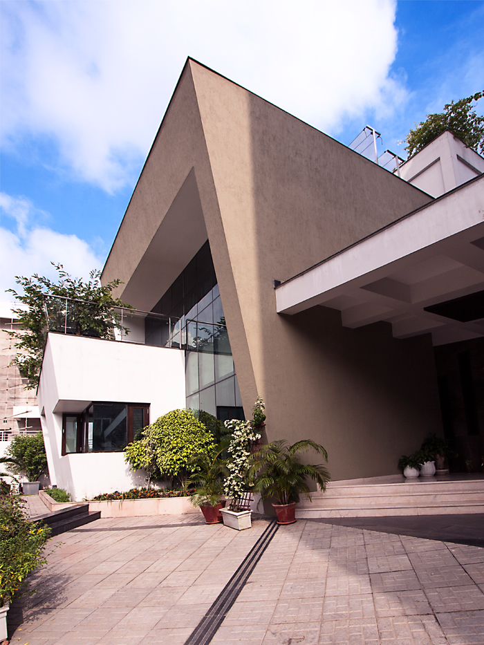
{"type": "Polygon", "coordinates": [[[195,472],[189,476],[189,481],[196,485],[192,494],[192,505],[199,507],[207,524],[218,524],[222,521],[221,508],[225,504],[222,499],[223,480],[228,474],[227,460],[222,454],[226,444],[221,443],[211,451],[196,454],[189,459],[189,465],[195,472]]]}

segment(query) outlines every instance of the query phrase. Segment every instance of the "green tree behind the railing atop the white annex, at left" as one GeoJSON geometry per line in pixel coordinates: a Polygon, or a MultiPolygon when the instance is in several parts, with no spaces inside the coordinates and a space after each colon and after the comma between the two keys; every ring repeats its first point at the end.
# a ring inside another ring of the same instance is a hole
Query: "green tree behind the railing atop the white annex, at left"
{"type": "Polygon", "coordinates": [[[25,389],[35,389],[39,384],[48,330],[112,339],[114,330],[122,328],[120,315],[113,307],[132,308],[119,298],[113,298],[113,290],[122,284],[120,280],[102,286],[101,272],[91,271],[89,281],[84,282],[71,277],[62,264],[52,264],[59,273],[57,282],[37,274],[31,278],[15,276],[23,293],[8,289],[15,299],[27,305],[27,309],[14,309],[19,317],[19,331],[9,332],[17,339],[15,348],[18,352],[12,364],[17,365],[21,376],[28,379],[25,389]]]}

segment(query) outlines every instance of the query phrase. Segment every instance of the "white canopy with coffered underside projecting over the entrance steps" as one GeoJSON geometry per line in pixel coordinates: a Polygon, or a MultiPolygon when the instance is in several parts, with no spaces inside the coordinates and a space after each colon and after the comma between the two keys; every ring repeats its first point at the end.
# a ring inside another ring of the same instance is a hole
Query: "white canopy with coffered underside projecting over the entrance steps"
{"type": "Polygon", "coordinates": [[[277,286],[276,301],[281,314],[322,305],[341,311],[345,327],[387,321],[394,337],[431,333],[440,345],[484,336],[484,316],[426,308],[483,290],[481,176],[277,286]]]}

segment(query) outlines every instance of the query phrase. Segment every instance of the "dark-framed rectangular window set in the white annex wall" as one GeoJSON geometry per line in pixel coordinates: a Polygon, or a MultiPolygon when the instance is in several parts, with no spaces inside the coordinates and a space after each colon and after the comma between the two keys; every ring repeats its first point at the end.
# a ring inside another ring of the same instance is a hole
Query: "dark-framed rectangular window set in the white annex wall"
{"type": "Polygon", "coordinates": [[[62,454],[120,452],[149,425],[149,404],[93,402],[62,417],[62,454]]]}

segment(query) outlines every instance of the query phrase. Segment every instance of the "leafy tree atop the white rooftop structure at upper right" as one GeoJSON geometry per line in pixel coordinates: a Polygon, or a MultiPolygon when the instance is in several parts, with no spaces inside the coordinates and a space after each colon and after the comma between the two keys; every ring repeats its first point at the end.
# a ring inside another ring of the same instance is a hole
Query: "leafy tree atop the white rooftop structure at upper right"
{"type": "Polygon", "coordinates": [[[450,130],[463,140],[468,148],[484,153],[484,117],[476,114],[472,103],[481,99],[484,92],[477,92],[459,101],[451,101],[444,106],[443,113],[427,114],[427,119],[410,130],[404,141],[409,158],[433,141],[439,134],[450,130]]]}

